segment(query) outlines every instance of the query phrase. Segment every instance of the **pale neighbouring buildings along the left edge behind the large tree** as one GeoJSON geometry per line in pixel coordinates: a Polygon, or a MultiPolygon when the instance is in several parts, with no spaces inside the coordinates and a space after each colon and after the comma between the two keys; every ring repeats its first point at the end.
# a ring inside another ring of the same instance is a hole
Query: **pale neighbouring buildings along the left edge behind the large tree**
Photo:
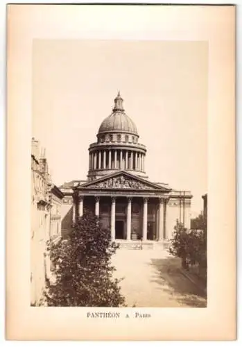
{"type": "Polygon", "coordinates": [[[32,139],[31,151],[31,305],[39,305],[51,279],[47,242],[60,239],[62,192],[51,182],[45,153],[32,139]]]}

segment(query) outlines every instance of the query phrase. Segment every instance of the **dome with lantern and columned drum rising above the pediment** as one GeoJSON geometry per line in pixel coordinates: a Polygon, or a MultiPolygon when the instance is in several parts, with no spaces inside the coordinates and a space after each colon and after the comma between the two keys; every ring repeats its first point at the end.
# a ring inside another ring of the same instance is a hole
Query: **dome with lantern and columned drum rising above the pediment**
{"type": "Polygon", "coordinates": [[[96,137],[97,142],[89,146],[88,180],[120,170],[147,178],[146,146],[139,144],[137,126],[126,115],[120,93],[114,99],[112,114],[103,120],[96,137]]]}

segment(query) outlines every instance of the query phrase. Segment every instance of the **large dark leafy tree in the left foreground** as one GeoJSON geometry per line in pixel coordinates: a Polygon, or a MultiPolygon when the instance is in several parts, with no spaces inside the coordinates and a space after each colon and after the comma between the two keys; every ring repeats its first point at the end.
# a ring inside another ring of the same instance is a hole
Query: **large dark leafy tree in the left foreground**
{"type": "Polygon", "coordinates": [[[49,251],[55,272],[55,283],[46,290],[49,306],[120,307],[120,280],[111,257],[116,247],[110,230],[101,226],[94,214],[85,211],[67,239],[50,244],[49,251]]]}

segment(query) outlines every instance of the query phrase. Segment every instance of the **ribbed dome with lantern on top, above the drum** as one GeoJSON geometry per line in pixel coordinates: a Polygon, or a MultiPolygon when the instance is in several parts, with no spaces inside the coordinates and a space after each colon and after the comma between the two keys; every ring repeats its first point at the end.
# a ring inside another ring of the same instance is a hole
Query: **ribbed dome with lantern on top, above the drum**
{"type": "Polygon", "coordinates": [[[112,115],[103,120],[98,133],[112,133],[119,131],[122,133],[138,135],[137,126],[124,112],[123,99],[121,98],[120,93],[114,99],[112,115]]]}

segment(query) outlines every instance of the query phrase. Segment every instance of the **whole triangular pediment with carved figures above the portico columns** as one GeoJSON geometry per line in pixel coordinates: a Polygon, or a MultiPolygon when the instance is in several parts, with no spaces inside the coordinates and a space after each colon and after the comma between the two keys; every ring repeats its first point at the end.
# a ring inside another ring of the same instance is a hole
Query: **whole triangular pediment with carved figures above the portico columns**
{"type": "Polygon", "coordinates": [[[129,174],[126,171],[119,171],[118,173],[107,175],[103,178],[98,178],[92,182],[80,185],[79,188],[90,189],[148,189],[169,192],[171,189],[156,185],[148,180],[139,178],[135,175],[129,174]]]}

